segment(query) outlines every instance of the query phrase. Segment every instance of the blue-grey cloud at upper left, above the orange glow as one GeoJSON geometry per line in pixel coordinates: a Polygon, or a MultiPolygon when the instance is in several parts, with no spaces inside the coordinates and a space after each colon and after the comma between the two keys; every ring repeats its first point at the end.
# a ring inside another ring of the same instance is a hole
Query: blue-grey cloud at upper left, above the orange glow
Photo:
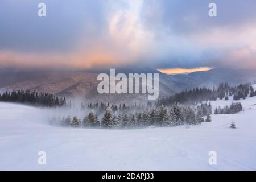
{"type": "Polygon", "coordinates": [[[0,49],[72,51],[81,35],[90,41],[106,26],[105,1],[3,0],[0,6],[0,49]],[[46,3],[47,16],[38,17],[46,3]]]}

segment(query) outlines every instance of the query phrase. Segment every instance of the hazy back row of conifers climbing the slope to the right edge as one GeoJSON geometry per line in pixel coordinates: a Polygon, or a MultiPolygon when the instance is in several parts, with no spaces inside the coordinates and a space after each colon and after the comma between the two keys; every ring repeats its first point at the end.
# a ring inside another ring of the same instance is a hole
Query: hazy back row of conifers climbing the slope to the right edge
{"type": "MultiPolygon", "coordinates": [[[[220,100],[229,100],[233,97],[233,100],[245,99],[249,94],[249,97],[256,96],[256,92],[253,86],[250,84],[240,84],[238,86],[230,86],[228,83],[220,83],[218,88],[195,88],[192,90],[185,90],[180,93],[176,93],[172,96],[167,96],[159,99],[156,102],[148,101],[147,104],[133,104],[126,105],[125,103],[114,105],[109,102],[96,102],[89,103],[87,109],[94,109],[100,113],[104,112],[108,107],[111,107],[113,111],[129,111],[129,110],[144,110],[152,106],[172,106],[175,103],[183,105],[197,105],[204,101],[215,101],[217,98],[220,100]]],[[[81,109],[86,109],[86,106],[81,102],[81,109]]]]}

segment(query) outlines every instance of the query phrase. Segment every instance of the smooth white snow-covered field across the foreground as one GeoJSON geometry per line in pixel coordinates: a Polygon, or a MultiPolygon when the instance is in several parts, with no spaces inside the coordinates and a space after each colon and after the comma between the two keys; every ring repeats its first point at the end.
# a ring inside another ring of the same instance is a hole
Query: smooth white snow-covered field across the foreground
{"type": "MultiPolygon", "coordinates": [[[[230,102],[211,103],[214,110],[230,102]]],[[[0,102],[0,169],[256,170],[256,97],[241,103],[245,111],[188,129],[97,130],[49,126],[45,110],[0,102]],[[229,129],[232,119],[237,129],[229,129]]]]}

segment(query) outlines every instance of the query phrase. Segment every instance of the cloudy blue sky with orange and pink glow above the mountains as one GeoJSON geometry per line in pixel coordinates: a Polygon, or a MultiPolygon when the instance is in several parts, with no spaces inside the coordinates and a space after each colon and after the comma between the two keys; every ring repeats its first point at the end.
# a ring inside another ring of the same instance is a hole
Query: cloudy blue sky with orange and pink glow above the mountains
{"type": "Polygon", "coordinates": [[[255,7],[255,0],[1,0],[0,67],[256,69],[255,7]],[[46,17],[38,16],[40,2],[46,17]],[[208,15],[211,2],[217,17],[208,15]]]}

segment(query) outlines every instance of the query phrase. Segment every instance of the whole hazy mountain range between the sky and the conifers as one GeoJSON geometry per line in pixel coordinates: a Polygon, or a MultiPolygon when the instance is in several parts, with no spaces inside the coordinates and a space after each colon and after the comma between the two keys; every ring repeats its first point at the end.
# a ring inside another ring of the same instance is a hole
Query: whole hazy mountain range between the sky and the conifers
{"type": "MultiPolygon", "coordinates": [[[[18,70],[0,69],[0,92],[6,90],[30,89],[38,92],[49,92],[66,97],[86,97],[89,100],[143,100],[145,94],[98,94],[97,75],[108,73],[109,69],[93,71],[56,71],[56,70],[18,70]]],[[[237,85],[254,82],[256,72],[244,69],[214,68],[210,71],[193,72],[180,75],[166,75],[156,69],[125,67],[115,70],[116,73],[159,73],[159,96],[167,96],[196,86],[212,87],[219,82],[237,85]]]]}

